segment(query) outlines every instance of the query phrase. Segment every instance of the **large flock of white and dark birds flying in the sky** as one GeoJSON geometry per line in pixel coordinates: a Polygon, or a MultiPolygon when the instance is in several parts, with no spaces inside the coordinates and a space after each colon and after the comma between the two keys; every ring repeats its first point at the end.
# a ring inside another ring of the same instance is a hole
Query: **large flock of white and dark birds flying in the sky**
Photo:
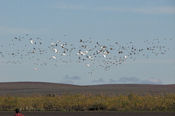
{"type": "Polygon", "coordinates": [[[134,60],[137,55],[164,55],[169,49],[163,44],[159,39],[146,40],[141,48],[133,41],[121,44],[111,40],[100,42],[80,39],[73,44],[60,40],[44,41],[24,34],[12,38],[8,45],[0,43],[0,63],[30,63],[34,65],[34,70],[38,70],[40,66],[79,63],[92,70],[102,68],[107,71],[111,67],[134,60]]]}

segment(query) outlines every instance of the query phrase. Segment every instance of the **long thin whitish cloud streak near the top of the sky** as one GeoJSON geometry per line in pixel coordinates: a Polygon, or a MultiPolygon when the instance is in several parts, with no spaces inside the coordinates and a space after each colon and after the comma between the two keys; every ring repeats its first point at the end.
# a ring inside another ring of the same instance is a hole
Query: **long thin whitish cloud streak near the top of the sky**
{"type": "Polygon", "coordinates": [[[60,3],[56,5],[61,10],[86,10],[86,11],[111,11],[119,13],[139,13],[139,14],[175,14],[173,6],[151,6],[151,7],[117,7],[117,6],[87,6],[83,4],[60,3]]]}

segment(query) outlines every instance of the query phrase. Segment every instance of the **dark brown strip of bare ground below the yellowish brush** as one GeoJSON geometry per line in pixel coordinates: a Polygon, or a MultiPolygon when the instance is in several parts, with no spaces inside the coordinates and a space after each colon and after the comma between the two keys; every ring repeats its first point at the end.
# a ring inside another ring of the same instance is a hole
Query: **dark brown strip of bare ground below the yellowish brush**
{"type": "MultiPolygon", "coordinates": [[[[174,112],[24,112],[24,116],[175,116],[174,112]]],[[[0,112],[13,116],[14,112],[0,112]]]]}

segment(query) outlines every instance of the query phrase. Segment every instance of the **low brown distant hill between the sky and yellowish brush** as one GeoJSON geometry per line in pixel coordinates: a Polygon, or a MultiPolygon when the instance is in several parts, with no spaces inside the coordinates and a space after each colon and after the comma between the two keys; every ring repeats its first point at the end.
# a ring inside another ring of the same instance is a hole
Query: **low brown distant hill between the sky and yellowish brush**
{"type": "Polygon", "coordinates": [[[0,83],[0,96],[32,96],[32,95],[62,95],[62,94],[105,94],[120,95],[136,93],[139,95],[162,95],[175,93],[175,84],[149,85],[149,84],[105,84],[78,86],[70,84],[57,84],[46,82],[4,82],[0,83]]]}

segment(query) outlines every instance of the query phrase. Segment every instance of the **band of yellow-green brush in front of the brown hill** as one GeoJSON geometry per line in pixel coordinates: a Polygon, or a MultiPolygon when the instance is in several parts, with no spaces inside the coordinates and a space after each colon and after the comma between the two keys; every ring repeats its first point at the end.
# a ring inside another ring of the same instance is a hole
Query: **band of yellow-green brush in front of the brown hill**
{"type": "Polygon", "coordinates": [[[0,111],[175,111],[175,94],[0,97],[0,111]]]}

